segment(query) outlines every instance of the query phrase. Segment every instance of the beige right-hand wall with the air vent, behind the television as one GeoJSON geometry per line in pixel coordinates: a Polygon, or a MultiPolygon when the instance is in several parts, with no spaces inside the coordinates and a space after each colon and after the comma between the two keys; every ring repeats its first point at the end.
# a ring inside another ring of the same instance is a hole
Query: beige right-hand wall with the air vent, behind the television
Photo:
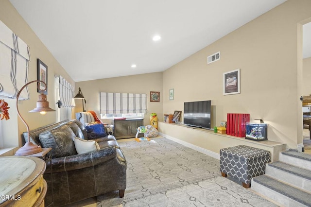
{"type": "Polygon", "coordinates": [[[269,140],[295,148],[302,142],[299,22],[310,17],[310,0],[288,0],[167,69],[163,113],[183,110],[186,101],[212,100],[217,125],[227,113],[249,113],[251,120],[269,124],[269,140]],[[218,51],[221,59],[207,65],[207,56],[218,51]],[[241,69],[241,94],[224,96],[223,73],[233,69],[241,69]],[[173,101],[168,99],[171,88],[173,101]]]}

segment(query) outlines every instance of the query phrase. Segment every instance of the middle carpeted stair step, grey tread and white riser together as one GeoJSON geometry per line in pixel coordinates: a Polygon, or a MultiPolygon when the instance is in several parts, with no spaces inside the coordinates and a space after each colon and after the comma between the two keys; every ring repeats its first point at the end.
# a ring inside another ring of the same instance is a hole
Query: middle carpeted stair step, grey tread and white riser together
{"type": "Polygon", "coordinates": [[[311,193],[311,171],[276,161],[266,164],[266,174],[311,193]]]}

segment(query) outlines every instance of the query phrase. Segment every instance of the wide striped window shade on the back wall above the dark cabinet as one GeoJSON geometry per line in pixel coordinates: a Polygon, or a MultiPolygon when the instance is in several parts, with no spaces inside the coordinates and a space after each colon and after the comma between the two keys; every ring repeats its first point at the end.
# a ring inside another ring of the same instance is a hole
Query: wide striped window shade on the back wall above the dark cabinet
{"type": "Polygon", "coordinates": [[[146,113],[147,94],[101,92],[101,114],[146,113]]]}

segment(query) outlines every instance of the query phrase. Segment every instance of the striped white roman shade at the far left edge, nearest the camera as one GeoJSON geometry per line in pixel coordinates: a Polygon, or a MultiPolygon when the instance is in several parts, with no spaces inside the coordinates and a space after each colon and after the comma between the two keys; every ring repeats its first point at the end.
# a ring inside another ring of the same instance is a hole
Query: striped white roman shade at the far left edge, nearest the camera
{"type": "MultiPolygon", "coordinates": [[[[29,46],[0,21],[0,97],[17,97],[18,90],[27,83],[29,61],[29,46]]],[[[19,99],[29,99],[27,87],[19,99]]]]}

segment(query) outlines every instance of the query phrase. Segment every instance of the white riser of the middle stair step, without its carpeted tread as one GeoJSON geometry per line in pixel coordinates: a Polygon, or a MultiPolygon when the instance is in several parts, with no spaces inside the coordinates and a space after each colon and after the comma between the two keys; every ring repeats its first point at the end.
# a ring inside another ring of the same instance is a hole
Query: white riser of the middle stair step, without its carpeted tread
{"type": "Polygon", "coordinates": [[[311,180],[266,165],[266,175],[311,193],[311,180]]]}

